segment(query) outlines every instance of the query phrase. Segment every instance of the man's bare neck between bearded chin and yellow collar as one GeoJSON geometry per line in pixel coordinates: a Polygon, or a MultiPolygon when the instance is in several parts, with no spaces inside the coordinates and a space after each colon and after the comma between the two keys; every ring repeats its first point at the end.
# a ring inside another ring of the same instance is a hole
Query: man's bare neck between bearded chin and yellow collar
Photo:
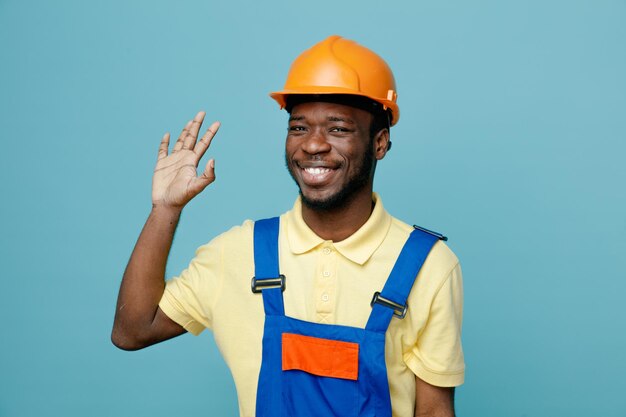
{"type": "Polygon", "coordinates": [[[352,236],[367,222],[374,203],[371,190],[360,193],[341,207],[329,210],[317,210],[302,204],[304,222],[324,240],[341,242],[352,236]]]}

